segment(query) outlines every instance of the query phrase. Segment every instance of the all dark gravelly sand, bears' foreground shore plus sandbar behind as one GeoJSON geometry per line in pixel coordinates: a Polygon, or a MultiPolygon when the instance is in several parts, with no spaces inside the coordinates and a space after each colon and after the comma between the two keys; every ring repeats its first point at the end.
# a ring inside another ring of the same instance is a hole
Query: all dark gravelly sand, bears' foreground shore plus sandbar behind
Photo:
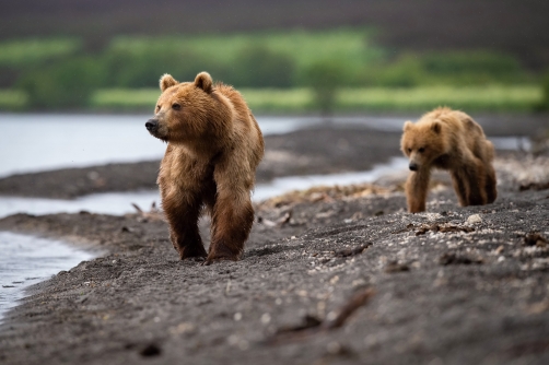
{"type": "MultiPolygon", "coordinates": [[[[398,140],[359,127],[270,137],[258,179],[366,169],[398,155],[398,140]]],[[[7,314],[0,363],[547,364],[549,155],[499,153],[495,167],[499,198],[484,207],[457,207],[436,174],[429,212],[406,213],[407,172],[267,201],[243,260],[209,267],[179,261],[154,215],[5,217],[0,229],[107,254],[7,314]]],[[[124,168],[14,176],[0,191],[153,187],[157,162],[124,168]]]]}

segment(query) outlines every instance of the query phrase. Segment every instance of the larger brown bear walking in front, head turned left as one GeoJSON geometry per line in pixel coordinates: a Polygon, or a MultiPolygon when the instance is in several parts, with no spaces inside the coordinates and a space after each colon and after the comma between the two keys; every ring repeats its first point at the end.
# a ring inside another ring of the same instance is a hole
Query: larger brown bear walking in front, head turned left
{"type": "Polygon", "coordinates": [[[164,74],[149,132],[167,142],[157,184],[180,259],[238,260],[254,222],[250,190],[264,156],[259,126],[242,95],[213,84],[209,73],[194,82],[164,74]],[[206,252],[198,229],[202,208],[211,215],[206,252]]]}

